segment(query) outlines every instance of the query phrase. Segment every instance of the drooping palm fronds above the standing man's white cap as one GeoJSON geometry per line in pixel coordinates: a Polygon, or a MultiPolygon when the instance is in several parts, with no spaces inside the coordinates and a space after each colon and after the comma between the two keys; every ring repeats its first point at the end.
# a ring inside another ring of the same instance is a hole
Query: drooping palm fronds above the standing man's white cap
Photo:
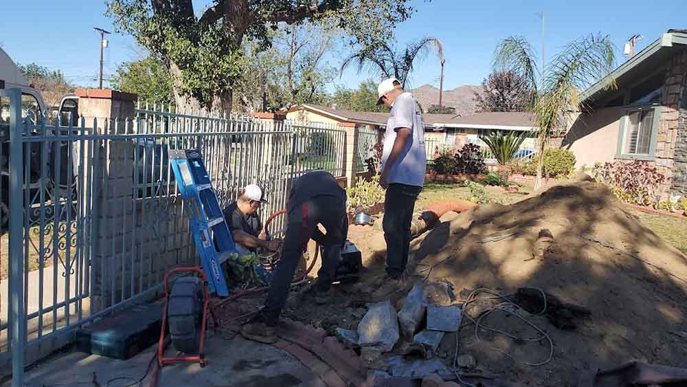
{"type": "Polygon", "coordinates": [[[366,69],[379,74],[380,78],[394,77],[405,86],[416,60],[424,60],[430,49],[442,60],[444,50],[437,38],[421,38],[409,43],[403,50],[397,50],[385,42],[366,45],[343,60],[341,74],[343,70],[355,65],[358,73],[366,69]]]}

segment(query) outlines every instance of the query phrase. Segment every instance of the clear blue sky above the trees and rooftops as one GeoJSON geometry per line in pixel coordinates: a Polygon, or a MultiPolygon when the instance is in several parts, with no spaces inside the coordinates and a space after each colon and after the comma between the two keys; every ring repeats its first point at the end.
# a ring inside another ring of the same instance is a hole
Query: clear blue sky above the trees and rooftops
{"type": "MultiPolygon", "coordinates": [[[[195,0],[194,5],[199,8],[208,2],[195,0]]],[[[416,0],[414,5],[418,12],[398,26],[396,38],[401,45],[421,36],[433,36],[444,43],[444,89],[480,83],[490,71],[495,45],[506,36],[526,36],[541,52],[542,11],[546,18],[548,58],[572,39],[600,32],[609,34],[622,63],[622,45],[632,34],[644,36],[638,43],[638,49],[642,49],[668,28],[687,28],[684,0],[664,0],[661,6],[638,0],[416,0]]],[[[104,10],[103,0],[5,0],[0,44],[15,62],[61,69],[78,85],[95,85],[99,36],[93,27],[113,31],[104,10]]],[[[144,55],[131,36],[111,34],[109,41],[105,52],[106,76],[123,61],[144,55]]],[[[336,58],[329,60],[338,67],[336,58]]],[[[412,83],[438,86],[438,74],[438,62],[430,56],[416,66],[412,83]]],[[[348,70],[336,82],[355,87],[369,76],[348,70]]]]}

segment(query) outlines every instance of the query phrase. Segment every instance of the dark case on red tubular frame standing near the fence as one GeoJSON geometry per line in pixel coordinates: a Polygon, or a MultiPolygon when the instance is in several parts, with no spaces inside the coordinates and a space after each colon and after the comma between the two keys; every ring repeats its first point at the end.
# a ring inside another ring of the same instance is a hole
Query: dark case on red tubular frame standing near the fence
{"type": "Polygon", "coordinates": [[[198,267],[174,267],[165,276],[165,307],[162,313],[162,328],[157,346],[157,362],[160,368],[174,362],[198,362],[205,366],[205,327],[207,313],[212,314],[214,326],[217,320],[210,310],[210,289],[205,272],[198,267]],[[178,278],[170,289],[172,274],[191,273],[197,276],[178,278]],[[184,352],[184,356],[165,357],[165,330],[169,323],[172,345],[184,352]]]}

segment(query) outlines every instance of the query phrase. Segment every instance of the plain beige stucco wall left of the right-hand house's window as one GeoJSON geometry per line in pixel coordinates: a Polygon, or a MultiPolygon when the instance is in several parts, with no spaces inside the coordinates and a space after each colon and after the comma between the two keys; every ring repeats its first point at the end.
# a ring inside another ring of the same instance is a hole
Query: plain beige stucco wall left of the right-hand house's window
{"type": "Polygon", "coordinates": [[[563,148],[574,153],[576,168],[613,161],[618,148],[622,111],[611,107],[578,115],[562,144],[563,148]]]}

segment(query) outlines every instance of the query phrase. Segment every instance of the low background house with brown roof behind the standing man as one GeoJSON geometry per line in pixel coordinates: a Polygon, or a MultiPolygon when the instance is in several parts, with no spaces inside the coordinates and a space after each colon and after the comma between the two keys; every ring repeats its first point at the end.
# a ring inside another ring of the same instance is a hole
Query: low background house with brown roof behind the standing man
{"type": "MultiPolygon", "coordinates": [[[[287,120],[326,122],[330,124],[364,126],[383,131],[389,113],[333,109],[314,104],[302,104],[289,109],[287,120]]],[[[425,113],[425,146],[431,157],[437,146],[462,146],[474,143],[486,146],[480,135],[491,131],[533,131],[534,116],[523,112],[490,112],[471,115],[425,113]]],[[[381,138],[381,134],[380,134],[381,138]]],[[[526,140],[523,148],[534,149],[536,140],[526,140]]]]}

